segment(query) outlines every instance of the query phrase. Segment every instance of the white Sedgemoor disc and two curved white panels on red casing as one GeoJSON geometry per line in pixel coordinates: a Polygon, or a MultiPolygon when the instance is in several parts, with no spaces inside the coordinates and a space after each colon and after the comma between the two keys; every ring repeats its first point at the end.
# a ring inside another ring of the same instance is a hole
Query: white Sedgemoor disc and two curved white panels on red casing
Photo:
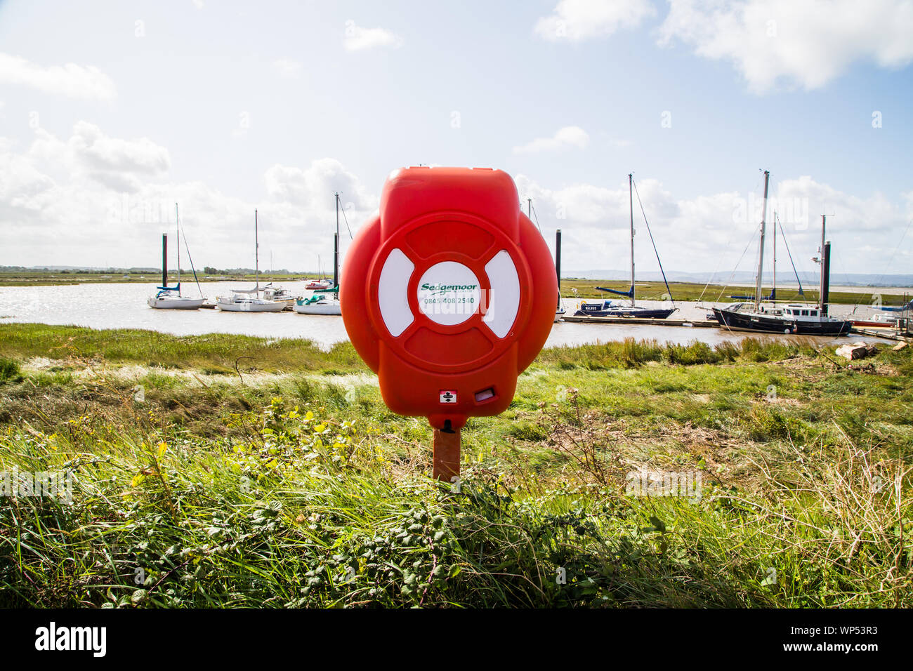
{"type": "MultiPolygon", "coordinates": [[[[409,308],[409,278],[415,264],[394,248],[381,268],[378,302],[381,318],[397,337],[415,320],[409,308]]],[[[485,266],[491,290],[485,300],[476,274],[456,261],[443,261],[425,270],[419,279],[419,309],[442,326],[461,324],[482,310],[482,322],[498,338],[508,335],[519,311],[519,275],[513,259],[502,249],[485,266]]]]}

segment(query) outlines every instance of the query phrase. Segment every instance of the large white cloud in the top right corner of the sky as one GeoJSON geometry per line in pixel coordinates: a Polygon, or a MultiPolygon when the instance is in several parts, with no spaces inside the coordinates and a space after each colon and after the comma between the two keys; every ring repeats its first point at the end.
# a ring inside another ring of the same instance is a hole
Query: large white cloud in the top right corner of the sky
{"type": "Polygon", "coordinates": [[[659,43],[730,61],[748,87],[820,89],[857,60],[902,68],[913,60],[908,0],[670,0],[659,43]]]}

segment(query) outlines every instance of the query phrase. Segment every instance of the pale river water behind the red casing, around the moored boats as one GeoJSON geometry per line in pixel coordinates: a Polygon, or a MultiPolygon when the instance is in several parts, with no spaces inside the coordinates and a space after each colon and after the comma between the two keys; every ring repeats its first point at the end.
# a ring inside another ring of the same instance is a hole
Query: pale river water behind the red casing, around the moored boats
{"type": "MultiPolygon", "coordinates": [[[[306,282],[283,282],[295,295],[310,295],[306,282]]],[[[185,285],[192,296],[196,287],[185,285]]],[[[238,282],[204,282],[203,294],[208,302],[228,295],[231,288],[250,288],[238,282]]],[[[77,284],[52,287],[0,287],[0,324],[37,322],[72,324],[92,329],[147,329],[174,335],[203,333],[237,333],[267,338],[308,338],[327,349],[348,336],[341,317],[299,315],[295,312],[249,313],[222,312],[217,309],[171,310],[152,309],[146,299],[152,284],[77,284]]],[[[573,314],[579,301],[565,300],[567,314],[573,314]]],[[[666,305],[658,301],[638,300],[645,306],[666,305]]],[[[677,303],[679,309],[672,319],[703,320],[711,303],[698,307],[693,302],[677,303]]],[[[835,306],[836,307],[836,306],[835,306]]],[[[594,342],[622,341],[625,338],[656,339],[660,342],[687,344],[703,341],[715,345],[722,341],[740,341],[750,334],[727,332],[716,328],[686,326],[652,326],[628,324],[574,324],[561,322],[551,330],[546,347],[580,345],[594,342]]],[[[787,336],[763,336],[787,339],[787,336]]],[[[832,341],[817,339],[822,343],[832,341]]],[[[848,339],[838,339],[849,341],[848,339]]],[[[878,341],[876,338],[853,336],[852,341],[878,341]]]]}

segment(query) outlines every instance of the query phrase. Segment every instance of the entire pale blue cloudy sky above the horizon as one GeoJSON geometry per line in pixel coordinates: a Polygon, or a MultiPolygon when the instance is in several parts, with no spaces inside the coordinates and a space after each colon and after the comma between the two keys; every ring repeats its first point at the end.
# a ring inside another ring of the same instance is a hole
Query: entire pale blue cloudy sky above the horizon
{"type": "Polygon", "coordinates": [[[666,270],[750,270],[762,170],[800,270],[826,214],[834,272],[908,273],[911,35],[910,0],[0,0],[0,265],[158,267],[177,203],[196,267],[253,267],[256,208],[261,268],[327,268],[333,192],[344,251],[422,163],[507,171],[565,276],[629,266],[628,173],[666,270]]]}

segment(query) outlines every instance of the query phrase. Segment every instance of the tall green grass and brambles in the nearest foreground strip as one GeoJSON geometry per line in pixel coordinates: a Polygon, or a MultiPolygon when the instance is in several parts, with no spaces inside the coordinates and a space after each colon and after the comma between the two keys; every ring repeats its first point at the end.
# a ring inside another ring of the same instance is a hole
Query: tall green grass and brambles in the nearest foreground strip
{"type": "Polygon", "coordinates": [[[848,441],[798,482],[707,474],[689,500],[475,457],[454,488],[279,399],[240,421],[237,440],[154,418],[7,431],[5,469],[60,469],[74,491],[0,506],[0,605],[911,605],[904,475],[848,441]]]}

